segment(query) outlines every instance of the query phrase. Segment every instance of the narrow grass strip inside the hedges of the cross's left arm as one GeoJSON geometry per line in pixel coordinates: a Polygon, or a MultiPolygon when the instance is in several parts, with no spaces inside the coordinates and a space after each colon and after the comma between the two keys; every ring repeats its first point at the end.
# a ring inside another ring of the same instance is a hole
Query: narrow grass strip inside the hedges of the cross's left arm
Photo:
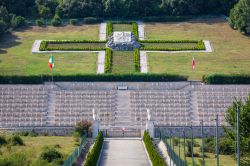
{"type": "Polygon", "coordinates": [[[106,43],[48,43],[49,50],[80,50],[80,49],[103,49],[105,50],[106,43]]]}

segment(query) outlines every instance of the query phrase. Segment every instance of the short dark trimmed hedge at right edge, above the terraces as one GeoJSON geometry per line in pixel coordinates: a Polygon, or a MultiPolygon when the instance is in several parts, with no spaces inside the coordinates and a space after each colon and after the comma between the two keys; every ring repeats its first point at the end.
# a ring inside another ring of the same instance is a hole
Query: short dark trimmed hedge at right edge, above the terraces
{"type": "Polygon", "coordinates": [[[206,84],[250,84],[250,75],[211,74],[204,75],[202,81],[206,84]]]}

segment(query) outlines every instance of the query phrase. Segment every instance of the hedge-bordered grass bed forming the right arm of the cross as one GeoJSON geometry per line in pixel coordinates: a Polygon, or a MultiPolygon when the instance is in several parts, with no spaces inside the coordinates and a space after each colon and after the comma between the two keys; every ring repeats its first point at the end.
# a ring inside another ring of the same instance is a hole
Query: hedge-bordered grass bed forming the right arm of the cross
{"type": "Polygon", "coordinates": [[[142,50],[182,51],[205,50],[202,41],[141,41],[142,50]]]}

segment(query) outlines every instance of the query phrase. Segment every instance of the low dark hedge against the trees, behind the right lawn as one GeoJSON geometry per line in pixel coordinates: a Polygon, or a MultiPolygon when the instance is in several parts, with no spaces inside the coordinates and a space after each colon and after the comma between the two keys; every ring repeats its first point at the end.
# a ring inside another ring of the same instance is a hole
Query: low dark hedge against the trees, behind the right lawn
{"type": "Polygon", "coordinates": [[[191,19],[192,16],[151,16],[143,17],[143,22],[177,22],[177,21],[187,21],[191,19]]]}

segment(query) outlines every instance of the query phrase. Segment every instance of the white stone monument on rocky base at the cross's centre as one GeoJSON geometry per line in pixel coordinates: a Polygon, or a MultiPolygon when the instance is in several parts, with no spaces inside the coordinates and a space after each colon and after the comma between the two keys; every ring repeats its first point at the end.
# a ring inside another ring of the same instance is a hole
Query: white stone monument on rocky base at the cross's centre
{"type": "Polygon", "coordinates": [[[141,47],[131,32],[114,32],[108,38],[106,46],[117,51],[132,51],[141,47]]]}

